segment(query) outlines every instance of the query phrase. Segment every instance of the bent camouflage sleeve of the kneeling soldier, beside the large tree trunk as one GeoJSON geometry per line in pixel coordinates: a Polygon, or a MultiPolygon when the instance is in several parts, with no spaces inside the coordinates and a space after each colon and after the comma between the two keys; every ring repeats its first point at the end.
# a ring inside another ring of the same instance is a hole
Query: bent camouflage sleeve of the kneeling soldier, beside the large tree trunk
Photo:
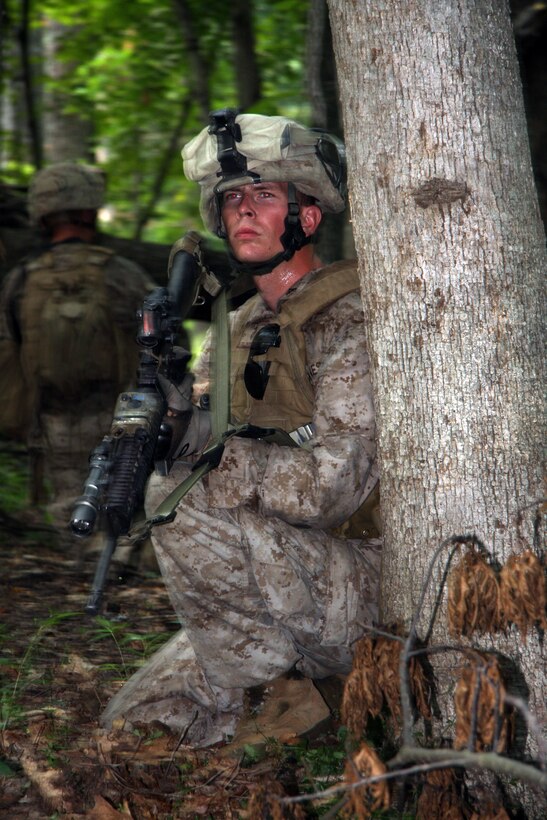
{"type": "Polygon", "coordinates": [[[213,507],[254,505],[291,524],[334,527],[377,483],[369,357],[358,294],[339,300],[306,330],[315,393],[311,451],[246,439],[228,442],[207,476],[213,507]]]}

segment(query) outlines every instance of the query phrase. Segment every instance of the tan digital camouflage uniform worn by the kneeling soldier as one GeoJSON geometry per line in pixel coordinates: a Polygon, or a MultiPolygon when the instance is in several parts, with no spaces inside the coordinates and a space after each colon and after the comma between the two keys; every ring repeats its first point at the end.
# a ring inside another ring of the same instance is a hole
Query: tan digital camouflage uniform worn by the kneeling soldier
{"type": "MultiPolygon", "coordinates": [[[[346,267],[333,266],[332,276],[346,267]]],[[[301,279],[276,312],[257,295],[232,314],[233,395],[256,330],[290,315],[322,275],[301,279]]],[[[159,721],[194,746],[221,741],[234,733],[247,687],[293,668],[311,678],[347,673],[352,643],[377,618],[380,539],[333,534],[378,482],[358,290],[312,315],[302,333],[315,426],[308,449],[230,439],[175,521],[153,530],[183,626],[110,701],[103,726],[159,721]]],[[[197,383],[208,380],[208,359],[206,348],[197,383]]],[[[273,365],[270,372],[264,400],[249,402],[237,421],[288,430],[269,400],[279,386],[273,365]]],[[[148,514],[189,467],[179,460],[167,478],[151,478],[148,514]]]]}

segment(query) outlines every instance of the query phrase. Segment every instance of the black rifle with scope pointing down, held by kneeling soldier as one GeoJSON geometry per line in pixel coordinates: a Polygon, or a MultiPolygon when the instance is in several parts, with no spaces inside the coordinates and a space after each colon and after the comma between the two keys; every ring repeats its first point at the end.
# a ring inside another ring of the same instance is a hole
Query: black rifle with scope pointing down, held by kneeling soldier
{"type": "Polygon", "coordinates": [[[90,471],[82,495],[75,501],[70,529],[86,538],[101,520],[106,535],[85,611],[97,615],[116,542],[129,532],[143,506],[146,482],[153,469],[167,475],[170,464],[156,460],[160,426],[167,412],[158,375],[178,382],[189,354],[176,354],[181,323],[196,303],[202,274],[201,237],[191,231],[173,245],[167,287],[154,290],[137,312],[139,367],[137,387],[120,393],[110,431],[90,455],[90,471]]]}

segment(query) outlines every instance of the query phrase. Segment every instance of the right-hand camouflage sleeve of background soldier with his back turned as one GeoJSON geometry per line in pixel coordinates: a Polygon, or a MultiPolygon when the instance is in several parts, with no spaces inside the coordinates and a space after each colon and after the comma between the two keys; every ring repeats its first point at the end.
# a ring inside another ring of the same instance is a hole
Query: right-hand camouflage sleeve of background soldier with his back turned
{"type": "Polygon", "coordinates": [[[105,280],[112,294],[111,309],[116,322],[133,332],[137,327],[136,311],[146,294],[158,285],[143,268],[117,254],[105,265],[105,280]]]}

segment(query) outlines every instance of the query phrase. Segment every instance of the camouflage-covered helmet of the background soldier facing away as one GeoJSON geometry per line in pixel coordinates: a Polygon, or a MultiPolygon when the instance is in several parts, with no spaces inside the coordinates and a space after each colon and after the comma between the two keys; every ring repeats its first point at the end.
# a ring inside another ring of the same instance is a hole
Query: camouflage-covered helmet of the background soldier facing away
{"type": "Polygon", "coordinates": [[[104,205],[104,174],[92,165],[60,162],[33,177],[28,193],[31,219],[58,211],[97,210],[104,205]]]}

